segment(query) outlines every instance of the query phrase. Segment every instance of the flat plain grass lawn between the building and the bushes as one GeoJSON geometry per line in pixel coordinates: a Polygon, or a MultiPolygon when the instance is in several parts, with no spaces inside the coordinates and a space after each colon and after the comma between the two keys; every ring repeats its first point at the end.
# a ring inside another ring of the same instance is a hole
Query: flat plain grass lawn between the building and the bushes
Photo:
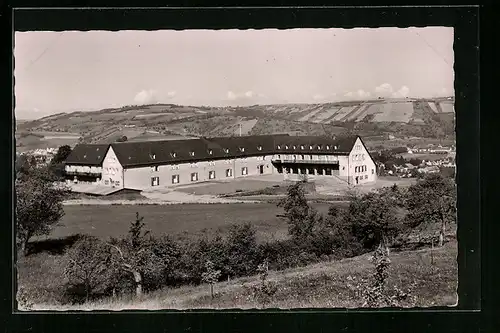
{"type": "MultiPolygon", "coordinates": [[[[326,213],[329,204],[314,205],[326,213]]],[[[144,216],[146,229],[154,235],[199,235],[205,229],[227,229],[230,224],[252,223],[259,240],[286,237],[283,210],[270,203],[184,204],[184,205],[67,205],[62,221],[51,238],[91,234],[101,238],[125,235],[135,213],[144,216]]],[[[43,238],[42,238],[43,239],[43,238]]]]}

